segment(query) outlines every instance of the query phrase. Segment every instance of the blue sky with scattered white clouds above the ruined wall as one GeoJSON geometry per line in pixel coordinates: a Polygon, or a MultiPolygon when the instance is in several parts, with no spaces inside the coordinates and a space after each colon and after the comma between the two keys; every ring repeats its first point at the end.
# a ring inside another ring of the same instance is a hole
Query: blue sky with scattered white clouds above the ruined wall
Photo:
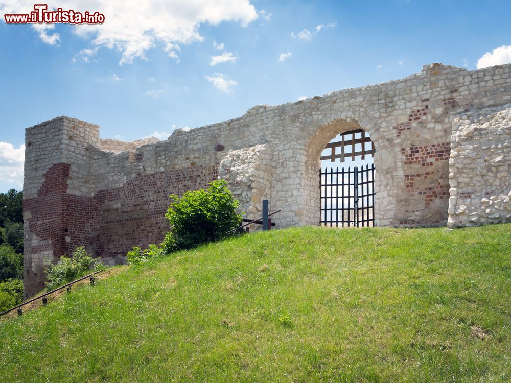
{"type": "Polygon", "coordinates": [[[105,22],[35,29],[3,17],[33,3],[0,0],[0,192],[22,187],[24,129],[59,115],[99,124],[102,138],[166,138],[431,62],[511,62],[509,1],[162,3],[49,2],[105,22]]]}

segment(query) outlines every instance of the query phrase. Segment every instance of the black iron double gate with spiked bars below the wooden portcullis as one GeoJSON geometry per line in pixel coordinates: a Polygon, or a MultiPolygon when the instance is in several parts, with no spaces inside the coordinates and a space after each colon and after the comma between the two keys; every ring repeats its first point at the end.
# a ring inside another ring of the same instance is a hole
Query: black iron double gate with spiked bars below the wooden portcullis
{"type": "Polygon", "coordinates": [[[375,164],[319,170],[321,226],[375,225],[375,164]]]}

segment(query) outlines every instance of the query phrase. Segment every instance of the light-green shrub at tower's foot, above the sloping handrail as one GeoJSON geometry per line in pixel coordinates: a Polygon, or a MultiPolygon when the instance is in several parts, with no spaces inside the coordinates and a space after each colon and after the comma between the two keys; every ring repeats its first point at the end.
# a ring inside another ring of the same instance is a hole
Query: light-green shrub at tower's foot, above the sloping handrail
{"type": "Polygon", "coordinates": [[[72,282],[80,278],[87,271],[97,271],[104,268],[103,262],[98,258],[92,258],[87,254],[83,246],[73,250],[72,257],[62,256],[56,265],[49,264],[44,272],[46,274],[47,291],[53,290],[62,286],[63,284],[72,282]]]}

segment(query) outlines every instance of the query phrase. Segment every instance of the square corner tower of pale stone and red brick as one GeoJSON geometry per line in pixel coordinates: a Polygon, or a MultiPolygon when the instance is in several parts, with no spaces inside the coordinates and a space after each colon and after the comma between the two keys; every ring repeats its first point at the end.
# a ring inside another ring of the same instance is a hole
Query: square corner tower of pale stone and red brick
{"type": "Polygon", "coordinates": [[[99,126],[72,118],[26,130],[24,279],[32,293],[44,286],[46,261],[89,241],[89,211],[76,207],[92,193],[88,147],[98,142],[99,126]]]}

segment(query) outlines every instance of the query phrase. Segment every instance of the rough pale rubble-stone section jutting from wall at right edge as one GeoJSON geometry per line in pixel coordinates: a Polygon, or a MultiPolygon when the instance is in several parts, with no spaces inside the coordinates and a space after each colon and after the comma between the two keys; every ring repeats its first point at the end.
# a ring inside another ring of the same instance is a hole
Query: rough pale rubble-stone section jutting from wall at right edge
{"type": "Polygon", "coordinates": [[[511,222],[511,104],[453,123],[449,227],[511,222]]]}

